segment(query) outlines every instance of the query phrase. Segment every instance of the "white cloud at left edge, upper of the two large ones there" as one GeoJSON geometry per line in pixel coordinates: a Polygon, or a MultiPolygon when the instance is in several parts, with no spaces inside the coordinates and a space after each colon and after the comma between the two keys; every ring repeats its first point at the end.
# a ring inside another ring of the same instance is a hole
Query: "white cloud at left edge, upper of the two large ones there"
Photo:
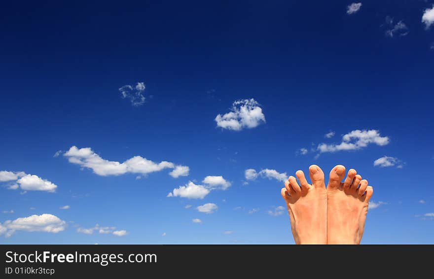
{"type": "Polygon", "coordinates": [[[1,171],[0,172],[0,182],[5,181],[13,181],[14,183],[8,185],[8,189],[16,190],[21,188],[25,191],[47,191],[47,192],[55,192],[57,185],[46,180],[42,179],[37,175],[26,174],[24,172],[8,172],[1,171]]]}

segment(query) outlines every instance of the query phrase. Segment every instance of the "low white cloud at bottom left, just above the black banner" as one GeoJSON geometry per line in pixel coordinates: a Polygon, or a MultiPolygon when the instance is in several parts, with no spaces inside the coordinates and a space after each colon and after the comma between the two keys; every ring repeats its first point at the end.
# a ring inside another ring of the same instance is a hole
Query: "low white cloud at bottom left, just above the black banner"
{"type": "Polygon", "coordinates": [[[58,233],[65,230],[66,226],[65,221],[52,214],[32,215],[0,224],[0,235],[10,237],[16,231],[58,233]]]}

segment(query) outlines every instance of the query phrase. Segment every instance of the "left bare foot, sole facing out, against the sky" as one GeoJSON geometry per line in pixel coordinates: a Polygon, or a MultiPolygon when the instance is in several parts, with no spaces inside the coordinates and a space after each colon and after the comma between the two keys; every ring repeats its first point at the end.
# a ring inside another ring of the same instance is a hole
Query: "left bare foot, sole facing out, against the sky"
{"type": "Polygon", "coordinates": [[[324,173],[320,167],[309,167],[312,184],[307,183],[302,171],[289,176],[281,194],[287,204],[291,231],[295,244],[327,243],[327,192],[324,173]]]}

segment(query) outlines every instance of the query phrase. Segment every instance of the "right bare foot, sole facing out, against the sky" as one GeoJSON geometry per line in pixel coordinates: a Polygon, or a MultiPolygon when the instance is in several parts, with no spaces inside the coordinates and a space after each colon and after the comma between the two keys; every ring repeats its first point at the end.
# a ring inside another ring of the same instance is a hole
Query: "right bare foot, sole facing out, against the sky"
{"type": "Polygon", "coordinates": [[[327,244],[360,244],[373,189],[356,170],[344,182],[345,167],[330,172],[327,185],[327,244]],[[359,187],[360,185],[360,187],[359,187]]]}

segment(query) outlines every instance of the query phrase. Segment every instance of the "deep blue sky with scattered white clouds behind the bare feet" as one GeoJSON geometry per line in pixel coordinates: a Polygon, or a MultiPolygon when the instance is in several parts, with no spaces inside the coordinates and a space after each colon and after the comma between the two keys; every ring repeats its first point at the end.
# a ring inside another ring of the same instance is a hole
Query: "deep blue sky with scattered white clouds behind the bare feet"
{"type": "Polygon", "coordinates": [[[362,243],[434,243],[434,2],[351,3],[3,3],[0,243],[292,244],[311,164],[374,187],[362,243]]]}

